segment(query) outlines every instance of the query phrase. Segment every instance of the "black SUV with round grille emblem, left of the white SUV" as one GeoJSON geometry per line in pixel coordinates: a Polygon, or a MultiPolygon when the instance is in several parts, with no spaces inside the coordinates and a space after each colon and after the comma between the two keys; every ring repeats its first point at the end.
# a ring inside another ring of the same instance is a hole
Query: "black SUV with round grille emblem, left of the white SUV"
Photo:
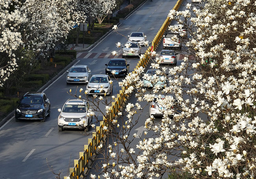
{"type": "Polygon", "coordinates": [[[18,103],[15,121],[30,119],[45,122],[45,117],[50,116],[51,104],[45,93],[28,92],[18,103]]]}

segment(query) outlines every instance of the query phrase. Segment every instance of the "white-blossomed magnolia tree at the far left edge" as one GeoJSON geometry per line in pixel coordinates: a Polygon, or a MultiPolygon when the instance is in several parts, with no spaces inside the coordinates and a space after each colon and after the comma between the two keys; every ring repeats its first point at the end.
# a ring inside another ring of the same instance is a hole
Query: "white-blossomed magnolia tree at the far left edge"
{"type": "Polygon", "coordinates": [[[17,69],[15,51],[22,44],[19,29],[26,21],[19,1],[0,0],[0,86],[17,69]]]}

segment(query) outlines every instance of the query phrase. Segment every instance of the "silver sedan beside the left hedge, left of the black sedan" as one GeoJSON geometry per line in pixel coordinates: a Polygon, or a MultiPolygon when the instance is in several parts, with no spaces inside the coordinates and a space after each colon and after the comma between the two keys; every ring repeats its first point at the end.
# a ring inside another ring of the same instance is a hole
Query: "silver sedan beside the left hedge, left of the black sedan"
{"type": "Polygon", "coordinates": [[[87,65],[73,65],[67,73],[67,84],[88,83],[91,79],[91,70],[87,65]]]}

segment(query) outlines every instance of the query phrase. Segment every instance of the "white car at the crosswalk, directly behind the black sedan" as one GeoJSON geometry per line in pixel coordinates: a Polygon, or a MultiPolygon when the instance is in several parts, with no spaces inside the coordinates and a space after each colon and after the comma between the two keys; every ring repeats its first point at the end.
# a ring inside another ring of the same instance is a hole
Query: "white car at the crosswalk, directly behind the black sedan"
{"type": "Polygon", "coordinates": [[[128,41],[122,47],[122,58],[126,56],[139,57],[139,55],[141,55],[141,46],[138,44],[138,42],[128,41]]]}

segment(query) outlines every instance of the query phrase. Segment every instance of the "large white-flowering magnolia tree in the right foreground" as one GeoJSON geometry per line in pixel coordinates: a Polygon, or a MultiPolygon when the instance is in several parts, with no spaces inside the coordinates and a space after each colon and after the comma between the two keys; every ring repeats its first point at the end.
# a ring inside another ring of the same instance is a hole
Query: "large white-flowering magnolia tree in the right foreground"
{"type": "Polygon", "coordinates": [[[169,29],[179,33],[185,26],[189,34],[180,34],[184,62],[167,69],[160,66],[161,58],[152,58],[156,75],[140,67],[119,82],[138,102],[128,103],[119,112],[121,119],[104,127],[112,137],[108,150],[102,150],[105,178],[161,178],[175,171],[200,179],[255,177],[255,7],[252,0],[211,0],[204,8],[187,4],[185,11],[170,11],[180,26],[169,29]],[[151,90],[143,79],[151,82],[151,90]],[[161,89],[158,82],[166,79],[168,85],[161,89]],[[158,124],[153,116],[145,119],[145,130],[153,135],[134,148],[135,117],[143,102],[155,98],[165,109],[163,119],[158,124]]]}

